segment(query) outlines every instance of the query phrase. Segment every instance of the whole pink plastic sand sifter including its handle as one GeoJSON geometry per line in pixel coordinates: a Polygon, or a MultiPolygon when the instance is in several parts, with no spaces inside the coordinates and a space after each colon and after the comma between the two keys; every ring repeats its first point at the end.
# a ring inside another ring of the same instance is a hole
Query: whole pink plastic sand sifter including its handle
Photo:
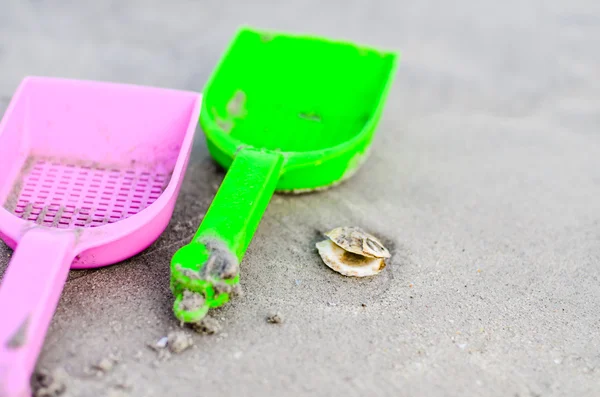
{"type": "Polygon", "coordinates": [[[113,264],[166,228],[201,95],[28,77],[0,123],[0,396],[30,378],[68,270],[113,264]]]}

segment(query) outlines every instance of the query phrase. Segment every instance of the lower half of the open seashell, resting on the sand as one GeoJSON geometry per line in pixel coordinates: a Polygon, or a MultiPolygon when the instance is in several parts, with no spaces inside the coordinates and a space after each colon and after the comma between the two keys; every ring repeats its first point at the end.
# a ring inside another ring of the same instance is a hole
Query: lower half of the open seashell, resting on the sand
{"type": "Polygon", "coordinates": [[[320,241],[316,246],[323,262],[344,276],[373,276],[385,267],[385,261],[382,258],[357,255],[342,249],[331,240],[320,241]]]}

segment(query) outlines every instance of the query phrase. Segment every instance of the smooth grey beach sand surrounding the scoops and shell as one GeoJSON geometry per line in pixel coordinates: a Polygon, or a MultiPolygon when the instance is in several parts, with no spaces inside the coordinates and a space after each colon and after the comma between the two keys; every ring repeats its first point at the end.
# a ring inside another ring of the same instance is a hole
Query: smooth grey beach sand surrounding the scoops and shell
{"type": "Polygon", "coordinates": [[[157,362],[146,344],[179,329],[170,257],[224,175],[198,135],[165,234],[70,275],[39,359],[67,372],[65,396],[600,395],[597,2],[85,3],[3,2],[2,106],[27,74],[201,90],[242,23],[402,58],[362,168],[275,197],[245,294],[211,313],[221,332],[157,362]],[[315,236],[343,225],[393,243],[379,275],[322,263],[315,236]]]}

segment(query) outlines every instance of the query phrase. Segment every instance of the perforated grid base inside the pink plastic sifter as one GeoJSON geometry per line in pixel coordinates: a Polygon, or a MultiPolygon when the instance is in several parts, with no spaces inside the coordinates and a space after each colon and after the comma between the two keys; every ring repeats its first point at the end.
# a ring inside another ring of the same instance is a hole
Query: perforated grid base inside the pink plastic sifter
{"type": "Polygon", "coordinates": [[[169,178],[138,167],[105,168],[30,157],[14,185],[13,203],[9,197],[5,207],[21,219],[49,227],[102,226],[148,207],[169,178]]]}

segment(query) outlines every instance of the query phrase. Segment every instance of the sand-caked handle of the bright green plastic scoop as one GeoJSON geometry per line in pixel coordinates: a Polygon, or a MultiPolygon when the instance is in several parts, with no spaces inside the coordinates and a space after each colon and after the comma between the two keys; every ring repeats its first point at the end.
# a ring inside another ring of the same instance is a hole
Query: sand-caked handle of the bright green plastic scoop
{"type": "Polygon", "coordinates": [[[200,228],[171,261],[174,313],[181,321],[197,322],[209,308],[229,301],[231,292],[224,288],[219,293],[214,284],[233,287],[239,282],[239,263],[273,196],[283,160],[279,153],[258,149],[241,149],[236,155],[200,228]],[[185,310],[184,290],[202,294],[205,304],[185,310]]]}

